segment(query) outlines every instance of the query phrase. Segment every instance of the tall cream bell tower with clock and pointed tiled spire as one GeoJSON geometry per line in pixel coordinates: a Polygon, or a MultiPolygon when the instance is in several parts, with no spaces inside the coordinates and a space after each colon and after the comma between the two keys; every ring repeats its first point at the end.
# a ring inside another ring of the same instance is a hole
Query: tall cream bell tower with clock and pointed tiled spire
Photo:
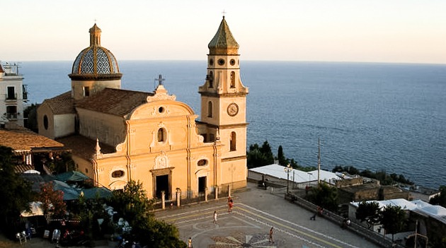
{"type": "Polygon", "coordinates": [[[222,147],[222,187],[246,187],[246,95],[240,79],[239,44],[223,16],[210,41],[207,75],[200,86],[201,130],[205,141],[222,147]]]}

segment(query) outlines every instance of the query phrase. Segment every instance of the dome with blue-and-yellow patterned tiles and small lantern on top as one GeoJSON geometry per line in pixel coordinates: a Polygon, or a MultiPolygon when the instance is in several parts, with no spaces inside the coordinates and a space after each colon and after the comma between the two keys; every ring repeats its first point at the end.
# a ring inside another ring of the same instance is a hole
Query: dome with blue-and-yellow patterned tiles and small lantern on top
{"type": "Polygon", "coordinates": [[[82,50],[73,63],[72,79],[121,78],[118,61],[110,50],[101,47],[101,29],[90,28],[90,47],[82,50]]]}

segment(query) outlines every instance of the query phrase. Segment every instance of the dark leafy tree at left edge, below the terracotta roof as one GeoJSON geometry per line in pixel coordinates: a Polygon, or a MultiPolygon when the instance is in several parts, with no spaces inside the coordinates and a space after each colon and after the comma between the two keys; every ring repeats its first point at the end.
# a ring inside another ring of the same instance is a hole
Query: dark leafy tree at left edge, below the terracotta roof
{"type": "Polygon", "coordinates": [[[0,146],[0,226],[6,233],[13,231],[9,224],[16,220],[21,211],[29,209],[33,201],[31,183],[14,171],[13,149],[0,146]]]}

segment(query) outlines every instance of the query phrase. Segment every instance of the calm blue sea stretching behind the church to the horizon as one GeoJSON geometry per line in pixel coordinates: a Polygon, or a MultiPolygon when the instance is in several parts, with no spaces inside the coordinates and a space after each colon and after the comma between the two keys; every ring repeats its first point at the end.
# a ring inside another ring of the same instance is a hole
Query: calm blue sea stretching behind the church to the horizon
{"type": "MultiPolygon", "coordinates": [[[[161,74],[200,114],[206,61],[120,61],[122,88],[152,91],[161,74]]],[[[25,61],[30,103],[70,90],[72,61],[25,61]]],[[[248,146],[268,141],[299,165],[402,174],[446,185],[446,65],[241,61],[248,146]]]]}

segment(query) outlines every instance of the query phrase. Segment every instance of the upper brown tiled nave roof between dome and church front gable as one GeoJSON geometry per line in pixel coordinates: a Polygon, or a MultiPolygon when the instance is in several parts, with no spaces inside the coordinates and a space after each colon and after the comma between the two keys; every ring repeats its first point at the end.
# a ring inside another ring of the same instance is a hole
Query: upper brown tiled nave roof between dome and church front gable
{"type": "Polygon", "coordinates": [[[152,95],[154,93],[105,88],[95,95],[80,100],[76,103],[76,108],[122,117],[129,114],[135,107],[147,103],[147,97],[152,95]]]}

